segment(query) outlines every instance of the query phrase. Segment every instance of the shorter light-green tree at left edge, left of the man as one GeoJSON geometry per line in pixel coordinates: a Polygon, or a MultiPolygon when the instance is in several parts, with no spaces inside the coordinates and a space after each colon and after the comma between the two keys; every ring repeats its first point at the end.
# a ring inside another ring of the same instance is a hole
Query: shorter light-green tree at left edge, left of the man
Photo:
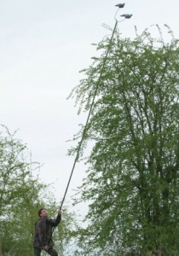
{"type": "Polygon", "coordinates": [[[32,255],[32,235],[40,194],[47,185],[32,172],[38,163],[30,159],[26,145],[8,128],[0,137],[0,241],[2,253],[32,255]]]}

